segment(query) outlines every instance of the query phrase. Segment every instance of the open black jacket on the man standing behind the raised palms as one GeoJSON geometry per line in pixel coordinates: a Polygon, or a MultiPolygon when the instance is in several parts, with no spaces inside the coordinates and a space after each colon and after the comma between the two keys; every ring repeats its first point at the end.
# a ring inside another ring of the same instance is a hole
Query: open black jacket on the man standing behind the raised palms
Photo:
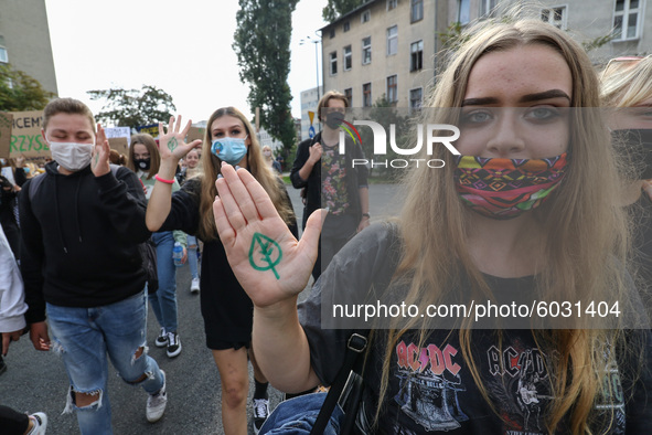
{"type": "MultiPolygon", "coordinates": [[[[308,180],[301,179],[299,170],[303,168],[303,165],[310,157],[310,147],[313,144],[321,144],[321,131],[318,132],[312,139],[306,139],[297,148],[297,157],[295,163],[290,170],[290,180],[292,185],[297,189],[306,188],[306,206],[303,208],[303,227],[306,227],[306,221],[308,216],[316,210],[321,208],[321,160],[312,167],[312,171],[308,177],[308,180]]],[[[346,140],[344,148],[344,158],[346,161],[346,190],[349,193],[349,201],[351,208],[346,213],[354,214],[357,221],[362,219],[362,208],[360,205],[360,192],[359,189],[367,187],[368,169],[366,166],[356,165],[352,168],[353,159],[364,159],[364,152],[359,144],[353,144],[351,140],[346,140]],[[353,176],[351,176],[353,173],[353,176]]]]}

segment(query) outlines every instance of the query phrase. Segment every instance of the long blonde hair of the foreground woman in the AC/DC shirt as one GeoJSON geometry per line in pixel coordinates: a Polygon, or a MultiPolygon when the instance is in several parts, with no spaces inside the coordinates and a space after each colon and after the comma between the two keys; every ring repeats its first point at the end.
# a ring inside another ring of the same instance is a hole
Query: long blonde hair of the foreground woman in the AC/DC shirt
{"type": "MultiPolygon", "coordinates": [[[[461,107],[471,70],[484,54],[535,44],[552,47],[565,59],[573,77],[571,107],[599,107],[598,79],[591,63],[581,46],[563,31],[539,20],[524,19],[484,23],[471,28],[469,33],[470,39],[438,77],[430,107],[461,107]]],[[[598,110],[571,112],[576,128],[570,131],[571,158],[566,179],[546,203],[531,211],[541,231],[549,235],[544,247],[545,262],[535,282],[552,300],[585,300],[590,295],[596,300],[605,297],[603,300],[628,301],[631,296],[622,268],[629,230],[622,210],[616,206],[618,171],[609,135],[598,110]],[[616,296],[607,298],[609,295],[616,296]]],[[[445,168],[421,167],[404,180],[404,252],[395,279],[409,277],[405,303],[437,304],[450,293],[451,285],[459,284],[460,277],[468,277],[477,300],[494,299],[469,254],[469,211],[451,182],[455,161],[443,147],[436,147],[431,158],[442,159],[445,168]],[[417,227],[419,231],[414,231],[417,227]]],[[[473,357],[470,320],[463,321],[459,330],[462,356],[482,395],[494,409],[473,357]]],[[[376,417],[387,392],[393,349],[402,335],[419,328],[424,325],[420,322],[414,319],[407,327],[388,331],[376,417]]],[[[426,332],[421,329],[421,341],[426,332]]],[[[496,333],[502,337],[500,331],[496,333]]],[[[568,416],[573,433],[591,433],[597,418],[595,402],[602,393],[605,354],[613,354],[608,352],[609,346],[618,342],[621,333],[591,329],[533,329],[532,333],[537,346],[558,350],[558,358],[547,368],[551,391],[556,397],[547,409],[548,431],[554,432],[568,416]]]]}

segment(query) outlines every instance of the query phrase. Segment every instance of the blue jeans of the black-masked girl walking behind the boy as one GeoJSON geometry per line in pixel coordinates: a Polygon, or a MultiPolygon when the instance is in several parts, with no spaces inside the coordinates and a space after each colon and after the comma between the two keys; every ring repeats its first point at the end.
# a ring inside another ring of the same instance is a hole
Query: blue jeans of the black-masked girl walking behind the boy
{"type": "Polygon", "coordinates": [[[165,332],[177,332],[177,266],[172,259],[174,237],[171,231],[163,231],[153,233],[151,238],[157,246],[159,289],[149,295],[149,303],[161,328],[165,328],[165,332]]]}

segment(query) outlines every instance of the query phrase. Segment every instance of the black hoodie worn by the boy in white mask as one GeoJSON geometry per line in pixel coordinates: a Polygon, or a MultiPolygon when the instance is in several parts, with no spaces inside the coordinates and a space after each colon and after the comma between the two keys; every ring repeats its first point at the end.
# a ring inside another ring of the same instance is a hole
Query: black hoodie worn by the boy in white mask
{"type": "Polygon", "coordinates": [[[142,184],[127,168],[95,177],[90,166],[64,176],[52,161],[30,194],[19,195],[21,272],[25,318],[45,320],[45,301],[99,307],[142,290],[146,273],[138,251],[150,232],[142,184]]]}

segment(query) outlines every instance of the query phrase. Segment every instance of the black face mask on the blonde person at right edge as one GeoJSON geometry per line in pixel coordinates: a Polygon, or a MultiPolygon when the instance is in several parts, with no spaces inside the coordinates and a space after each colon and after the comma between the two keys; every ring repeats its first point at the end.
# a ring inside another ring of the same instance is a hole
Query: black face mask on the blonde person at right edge
{"type": "Polygon", "coordinates": [[[635,170],[635,179],[652,179],[652,128],[611,131],[613,144],[635,170]]]}

